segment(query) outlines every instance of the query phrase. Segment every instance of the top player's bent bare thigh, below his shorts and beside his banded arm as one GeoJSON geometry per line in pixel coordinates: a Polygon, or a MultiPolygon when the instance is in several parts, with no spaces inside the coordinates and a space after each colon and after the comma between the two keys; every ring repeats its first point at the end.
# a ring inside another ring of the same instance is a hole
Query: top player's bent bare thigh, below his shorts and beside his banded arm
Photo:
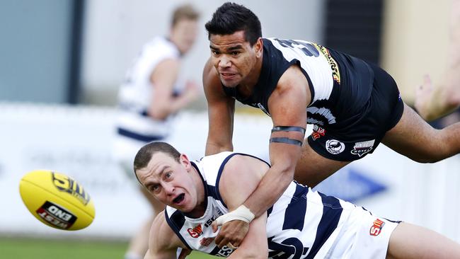
{"type": "Polygon", "coordinates": [[[308,140],[305,139],[302,154],[297,161],[294,179],[303,185],[314,188],[348,163],[350,161],[335,161],[321,156],[311,148],[308,140]]]}

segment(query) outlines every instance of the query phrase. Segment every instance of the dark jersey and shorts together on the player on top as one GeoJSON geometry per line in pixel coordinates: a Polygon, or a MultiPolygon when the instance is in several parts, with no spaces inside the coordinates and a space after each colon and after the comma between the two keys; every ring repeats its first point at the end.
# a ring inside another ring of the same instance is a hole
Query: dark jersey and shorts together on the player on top
{"type": "Polygon", "coordinates": [[[263,39],[260,76],[251,96],[224,86],[226,95],[270,115],[268,99],[284,72],[297,64],[309,83],[306,122],[314,125],[311,147],[322,156],[352,161],[372,153],[396,125],[403,103],[383,69],[304,40],[263,39]]]}

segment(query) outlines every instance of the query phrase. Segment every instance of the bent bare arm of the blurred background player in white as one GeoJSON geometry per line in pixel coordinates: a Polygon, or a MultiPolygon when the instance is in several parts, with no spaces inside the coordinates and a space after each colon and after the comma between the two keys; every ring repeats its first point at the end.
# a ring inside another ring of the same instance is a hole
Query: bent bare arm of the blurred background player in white
{"type": "Polygon", "coordinates": [[[197,86],[191,82],[185,85],[183,93],[173,96],[179,67],[178,59],[165,59],[151,74],[150,81],[154,86],[154,95],[149,107],[149,115],[156,120],[164,120],[169,115],[177,113],[197,96],[197,86]]]}

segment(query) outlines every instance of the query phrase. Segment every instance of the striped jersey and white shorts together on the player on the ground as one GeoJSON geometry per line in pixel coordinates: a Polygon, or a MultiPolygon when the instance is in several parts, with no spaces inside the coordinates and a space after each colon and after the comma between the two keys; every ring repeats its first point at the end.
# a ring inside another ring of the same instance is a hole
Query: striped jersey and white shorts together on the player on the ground
{"type": "MultiPolygon", "coordinates": [[[[202,217],[190,218],[166,207],[166,221],[189,249],[223,257],[233,252],[216,246],[217,233],[211,224],[229,212],[219,192],[219,179],[227,161],[238,155],[248,156],[223,152],[192,162],[205,186],[207,209],[202,217]]],[[[267,214],[269,258],[385,258],[389,236],[397,225],[294,182],[267,214]]]]}

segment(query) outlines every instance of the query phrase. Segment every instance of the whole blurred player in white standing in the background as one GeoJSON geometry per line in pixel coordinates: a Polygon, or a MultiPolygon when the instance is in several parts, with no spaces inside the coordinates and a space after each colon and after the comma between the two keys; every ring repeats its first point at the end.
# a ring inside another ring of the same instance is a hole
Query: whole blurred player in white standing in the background
{"type": "MultiPolygon", "coordinates": [[[[147,42],[127,71],[119,92],[115,158],[130,177],[137,150],[147,142],[168,137],[173,115],[197,97],[195,82],[177,83],[181,58],[197,36],[198,16],[190,4],[176,8],[169,35],[147,42]]],[[[154,214],[132,237],[126,259],[144,258],[151,221],[164,209],[151,195],[145,197],[154,214]]]]}

